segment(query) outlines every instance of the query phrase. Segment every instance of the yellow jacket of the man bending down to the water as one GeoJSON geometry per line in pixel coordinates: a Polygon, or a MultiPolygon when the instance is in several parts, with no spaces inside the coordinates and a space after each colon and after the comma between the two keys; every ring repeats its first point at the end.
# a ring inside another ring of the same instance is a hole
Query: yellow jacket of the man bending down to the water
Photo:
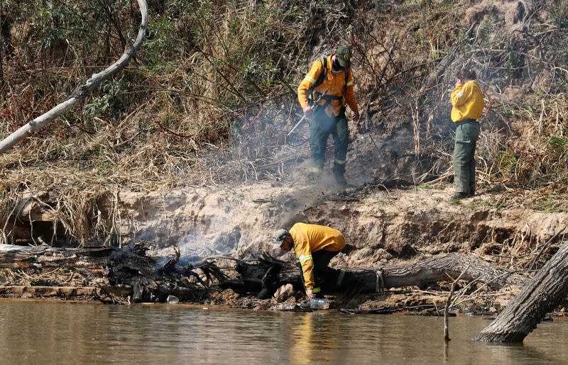
{"type": "Polygon", "coordinates": [[[314,288],[314,260],[312,253],[325,249],[340,251],[345,247],[342,232],[323,225],[296,223],[290,228],[294,240],[294,252],[302,265],[306,291],[314,288]]]}

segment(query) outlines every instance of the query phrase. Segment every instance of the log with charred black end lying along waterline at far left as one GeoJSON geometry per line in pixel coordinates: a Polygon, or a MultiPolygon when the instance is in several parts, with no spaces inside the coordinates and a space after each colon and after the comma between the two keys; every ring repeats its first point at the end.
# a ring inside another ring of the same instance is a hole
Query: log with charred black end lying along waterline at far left
{"type": "MultiPolygon", "coordinates": [[[[181,301],[200,300],[207,286],[194,271],[176,266],[178,259],[179,252],[176,252],[175,257],[162,257],[156,261],[139,245],[132,248],[0,245],[0,268],[44,272],[57,267],[83,274],[89,281],[104,278],[104,283],[97,282],[99,290],[105,293],[120,291],[125,293],[124,296],[131,296],[133,303],[164,302],[168,295],[177,296],[181,301]],[[190,277],[197,279],[190,281],[190,277]]],[[[208,263],[204,263],[201,269],[208,276],[221,275],[208,263]]],[[[55,287],[61,283],[50,285],[55,287]]]]}

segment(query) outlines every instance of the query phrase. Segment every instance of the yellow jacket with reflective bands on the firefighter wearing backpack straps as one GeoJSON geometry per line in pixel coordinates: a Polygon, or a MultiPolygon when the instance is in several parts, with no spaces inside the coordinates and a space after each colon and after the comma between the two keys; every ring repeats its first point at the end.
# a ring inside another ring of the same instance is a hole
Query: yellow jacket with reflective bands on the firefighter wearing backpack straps
{"type": "MultiPolygon", "coordinates": [[[[351,67],[347,69],[347,72],[342,70],[338,74],[332,72],[332,56],[327,56],[326,58],[327,76],[320,84],[316,87],[316,91],[323,94],[327,90],[327,96],[343,96],[343,99],[351,108],[351,111],[359,111],[357,103],[355,101],[355,96],[353,94],[353,78],[351,77],[351,67]],[[345,74],[347,74],[347,82],[345,82],[345,74]]],[[[320,77],[320,74],[324,71],[322,65],[322,60],[317,60],[312,63],[312,68],[310,72],[306,74],[300,85],[297,86],[297,100],[300,101],[300,106],[304,108],[310,105],[308,102],[308,94],[310,89],[315,85],[316,80],[320,77]]],[[[324,105],[326,101],[324,99],[320,100],[320,105],[324,105]]],[[[339,111],[343,106],[342,100],[330,100],[328,101],[325,112],[328,116],[339,116],[339,111]]]]}

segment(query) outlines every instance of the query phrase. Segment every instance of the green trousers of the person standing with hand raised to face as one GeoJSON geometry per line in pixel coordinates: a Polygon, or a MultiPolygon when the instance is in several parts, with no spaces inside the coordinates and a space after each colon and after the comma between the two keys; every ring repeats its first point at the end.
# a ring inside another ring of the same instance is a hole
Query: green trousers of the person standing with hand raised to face
{"type": "Polygon", "coordinates": [[[479,138],[479,123],[462,120],[456,128],[454,146],[454,183],[457,193],[475,191],[475,147],[479,138]]]}

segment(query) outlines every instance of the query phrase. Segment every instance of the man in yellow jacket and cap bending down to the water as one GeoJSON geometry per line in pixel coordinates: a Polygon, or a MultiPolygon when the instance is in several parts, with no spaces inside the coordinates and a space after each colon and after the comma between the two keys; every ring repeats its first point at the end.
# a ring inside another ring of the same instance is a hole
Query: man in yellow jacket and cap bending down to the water
{"type": "Polygon", "coordinates": [[[280,228],[272,237],[274,248],[294,249],[300,260],[302,282],[307,296],[344,287],[346,271],[332,269],[329,261],[345,247],[342,232],[323,225],[296,223],[285,230],[280,228]]]}

